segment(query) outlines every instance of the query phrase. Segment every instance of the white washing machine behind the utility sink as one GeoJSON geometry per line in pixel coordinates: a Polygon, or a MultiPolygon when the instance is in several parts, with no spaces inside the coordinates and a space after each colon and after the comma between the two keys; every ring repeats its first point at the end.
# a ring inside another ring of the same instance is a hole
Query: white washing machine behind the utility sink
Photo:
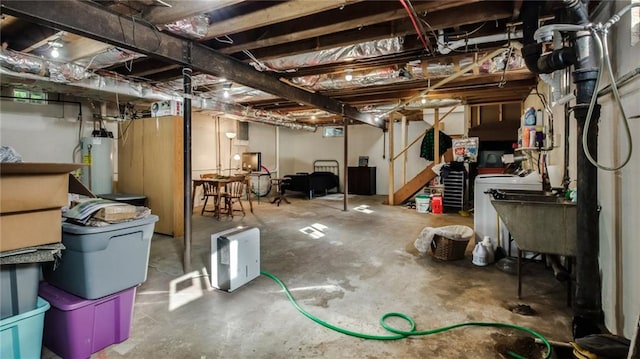
{"type": "MultiPolygon", "coordinates": [[[[489,174],[476,177],[473,192],[473,226],[476,243],[482,241],[484,236],[489,236],[495,249],[498,246],[498,213],[491,204],[491,195],[484,193],[492,188],[541,191],[542,177],[537,172],[523,177],[511,174],[489,174]]],[[[500,219],[500,246],[505,251],[509,248],[509,230],[502,219],[500,219]]],[[[514,255],[516,250],[513,244],[511,255],[514,255]]]]}

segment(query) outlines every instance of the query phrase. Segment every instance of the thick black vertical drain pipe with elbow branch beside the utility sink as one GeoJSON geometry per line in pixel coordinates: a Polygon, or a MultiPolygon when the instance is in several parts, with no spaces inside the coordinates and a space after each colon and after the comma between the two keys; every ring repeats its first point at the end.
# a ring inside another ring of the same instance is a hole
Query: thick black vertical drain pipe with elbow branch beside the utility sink
{"type": "MultiPolygon", "coordinates": [[[[579,25],[589,23],[588,0],[564,0],[564,4],[571,23],[579,25]]],[[[540,44],[536,44],[533,38],[533,32],[538,28],[539,6],[537,1],[525,1],[522,5],[523,57],[529,70],[534,73],[547,73],[574,65],[573,82],[576,86],[574,116],[577,122],[577,133],[581,134],[586,124],[589,102],[596,91],[595,83],[598,77],[593,38],[588,31],[577,32],[571,37],[571,52],[556,49],[549,55],[540,56],[542,47],[540,44]],[[536,55],[538,58],[535,58],[536,55]],[[553,60],[549,60],[550,57],[553,60]],[[546,66],[546,64],[550,65],[546,66]]],[[[597,123],[599,117],[600,105],[596,104],[591,117],[590,136],[587,144],[592,154],[598,152],[597,123]]],[[[573,303],[574,338],[600,333],[599,326],[603,322],[600,266],[598,264],[600,250],[598,172],[587,159],[582,146],[578,145],[577,147],[578,194],[576,204],[576,292],[573,303]]]]}

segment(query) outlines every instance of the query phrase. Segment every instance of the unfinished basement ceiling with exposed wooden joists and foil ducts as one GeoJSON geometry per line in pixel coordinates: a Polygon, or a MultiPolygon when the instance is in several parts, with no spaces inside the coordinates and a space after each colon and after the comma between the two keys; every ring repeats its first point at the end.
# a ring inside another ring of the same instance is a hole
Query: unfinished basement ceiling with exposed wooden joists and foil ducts
{"type": "Polygon", "coordinates": [[[521,101],[537,83],[519,56],[521,1],[3,0],[1,6],[4,86],[112,102],[119,92],[120,101],[138,108],[181,98],[185,66],[193,68],[194,106],[311,126],[344,114],[383,127],[377,117],[391,111],[418,120],[427,107],[521,101]]]}

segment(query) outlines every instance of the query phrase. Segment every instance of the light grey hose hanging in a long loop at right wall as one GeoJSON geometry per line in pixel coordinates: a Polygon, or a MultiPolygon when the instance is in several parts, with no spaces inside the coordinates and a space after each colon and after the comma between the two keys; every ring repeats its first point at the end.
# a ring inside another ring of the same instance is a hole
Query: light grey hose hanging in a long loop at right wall
{"type": "Polygon", "coordinates": [[[613,76],[613,69],[611,67],[611,59],[609,55],[609,46],[608,46],[607,36],[609,34],[608,29],[613,24],[615,24],[626,11],[629,11],[632,7],[635,7],[635,6],[640,6],[640,3],[634,3],[624,7],[621,11],[616,13],[609,21],[607,21],[605,25],[595,25],[590,27],[591,35],[596,44],[596,48],[598,49],[600,66],[598,68],[598,76],[596,78],[596,83],[594,85],[595,90],[591,95],[589,110],[587,111],[587,120],[585,122],[584,128],[582,129],[582,150],[584,151],[585,156],[587,157],[589,162],[591,162],[592,165],[604,171],[618,171],[622,169],[624,166],[627,165],[627,163],[629,163],[629,160],[631,160],[631,154],[633,152],[633,139],[631,136],[631,130],[629,129],[629,120],[627,119],[627,115],[624,112],[624,107],[622,106],[622,101],[620,99],[620,93],[618,92],[616,79],[613,76]],[[598,86],[600,84],[600,80],[602,78],[602,72],[605,66],[607,68],[607,72],[609,73],[609,79],[611,80],[611,90],[613,92],[613,97],[616,100],[616,104],[620,109],[620,114],[622,115],[622,120],[623,120],[622,123],[624,125],[625,134],[627,135],[627,139],[629,143],[629,148],[628,148],[626,158],[624,159],[624,161],[622,161],[622,164],[618,166],[613,166],[613,167],[605,166],[598,163],[598,161],[594,159],[593,156],[591,155],[591,152],[589,150],[589,146],[587,143],[587,139],[589,137],[589,127],[591,125],[591,116],[595,108],[596,100],[598,99],[598,86]]]}

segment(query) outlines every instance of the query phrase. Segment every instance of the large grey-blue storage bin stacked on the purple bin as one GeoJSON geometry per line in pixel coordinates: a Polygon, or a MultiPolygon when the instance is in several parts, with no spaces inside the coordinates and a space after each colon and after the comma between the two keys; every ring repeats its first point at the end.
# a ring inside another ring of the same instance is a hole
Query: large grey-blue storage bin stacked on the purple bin
{"type": "Polygon", "coordinates": [[[149,248],[158,216],[86,227],[62,224],[66,249],[54,270],[43,266],[54,286],[86,299],[98,299],[134,287],[147,279],[149,248]]]}

